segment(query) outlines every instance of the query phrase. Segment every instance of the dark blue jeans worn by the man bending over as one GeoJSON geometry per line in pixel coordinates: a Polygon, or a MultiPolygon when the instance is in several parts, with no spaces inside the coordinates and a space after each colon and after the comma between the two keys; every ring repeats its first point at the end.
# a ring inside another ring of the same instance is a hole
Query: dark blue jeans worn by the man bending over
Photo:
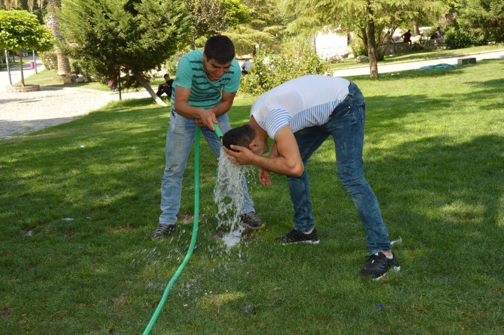
{"type": "Polygon", "coordinates": [[[287,181],[294,204],[294,229],[309,231],[314,227],[314,222],[306,163],[311,154],[332,136],[336,146],[336,171],[339,181],[352,198],[364,224],[369,254],[372,254],[390,251],[390,242],[378,200],[362,170],[365,110],[362,93],[357,85],[351,83],[348,96],[336,106],[325,124],[295,132],[305,169],[300,177],[288,176],[287,181]]]}

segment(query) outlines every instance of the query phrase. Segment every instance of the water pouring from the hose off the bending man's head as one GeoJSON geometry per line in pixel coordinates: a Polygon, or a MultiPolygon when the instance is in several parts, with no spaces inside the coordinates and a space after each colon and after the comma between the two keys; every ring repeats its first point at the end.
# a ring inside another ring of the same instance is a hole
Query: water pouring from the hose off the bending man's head
{"type": "Polygon", "coordinates": [[[234,165],[221,149],[214,188],[214,202],[217,204],[217,227],[229,229],[223,241],[229,249],[240,241],[244,228],[238,225],[239,210],[243,206],[243,184],[246,168],[234,165]]]}

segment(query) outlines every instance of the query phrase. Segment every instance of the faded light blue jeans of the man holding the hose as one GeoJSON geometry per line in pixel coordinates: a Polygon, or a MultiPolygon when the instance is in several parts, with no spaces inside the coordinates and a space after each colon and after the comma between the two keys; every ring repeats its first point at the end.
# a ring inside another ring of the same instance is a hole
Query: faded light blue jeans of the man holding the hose
{"type": "MultiPolygon", "coordinates": [[[[227,114],[217,117],[219,128],[222,133],[229,131],[231,125],[227,114]]],[[[203,136],[212,148],[215,157],[219,158],[222,143],[210,128],[201,128],[203,136]]],[[[182,191],[182,175],[187,164],[187,158],[191,152],[196,134],[196,121],[177,114],[171,109],[168,132],[166,134],[165,158],[163,179],[161,181],[161,211],[159,223],[173,225],[177,221],[180,210],[180,194],[182,191]]],[[[246,180],[242,180],[244,189],[244,203],[240,214],[254,211],[254,203],[248,195],[246,180]]]]}

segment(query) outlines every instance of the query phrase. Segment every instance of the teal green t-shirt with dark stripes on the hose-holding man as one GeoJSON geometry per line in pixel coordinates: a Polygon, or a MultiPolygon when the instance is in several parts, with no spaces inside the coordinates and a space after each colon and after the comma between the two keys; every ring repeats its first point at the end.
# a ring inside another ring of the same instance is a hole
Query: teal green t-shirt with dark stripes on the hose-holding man
{"type": "Polygon", "coordinates": [[[175,87],[191,88],[188,104],[209,109],[222,99],[222,90],[233,93],[240,87],[240,65],[233,59],[229,72],[218,81],[208,80],[203,70],[203,51],[194,50],[186,53],[178,62],[177,76],[173,83],[171,104],[175,101],[175,87]]]}

